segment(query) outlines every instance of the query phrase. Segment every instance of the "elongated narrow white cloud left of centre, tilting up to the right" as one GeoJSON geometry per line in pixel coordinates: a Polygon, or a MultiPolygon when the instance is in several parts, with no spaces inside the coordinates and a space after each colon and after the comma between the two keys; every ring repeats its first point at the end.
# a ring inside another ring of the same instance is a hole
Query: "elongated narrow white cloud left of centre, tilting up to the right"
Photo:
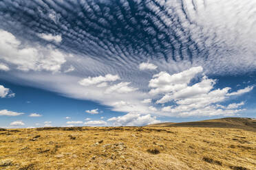
{"type": "Polygon", "coordinates": [[[107,74],[105,76],[98,76],[98,77],[87,77],[83,80],[80,80],[78,83],[82,86],[91,86],[94,84],[100,84],[102,82],[114,82],[116,80],[119,80],[119,75],[111,75],[107,74]]]}

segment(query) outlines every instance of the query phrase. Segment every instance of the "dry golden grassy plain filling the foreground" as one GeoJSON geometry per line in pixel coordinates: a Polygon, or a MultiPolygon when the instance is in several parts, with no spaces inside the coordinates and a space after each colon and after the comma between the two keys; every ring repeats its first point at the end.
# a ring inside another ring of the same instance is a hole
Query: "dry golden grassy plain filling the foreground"
{"type": "Polygon", "coordinates": [[[0,131],[0,169],[256,169],[253,131],[53,127],[0,131]]]}

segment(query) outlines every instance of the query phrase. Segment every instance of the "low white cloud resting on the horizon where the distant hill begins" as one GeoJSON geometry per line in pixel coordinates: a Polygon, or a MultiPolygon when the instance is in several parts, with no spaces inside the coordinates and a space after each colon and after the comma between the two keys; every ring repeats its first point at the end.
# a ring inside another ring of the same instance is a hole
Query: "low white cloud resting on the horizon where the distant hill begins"
{"type": "Polygon", "coordinates": [[[142,126],[149,125],[152,123],[160,123],[156,117],[152,117],[150,114],[138,114],[138,113],[128,113],[120,117],[112,117],[107,121],[111,121],[113,125],[125,125],[125,126],[142,126]]]}

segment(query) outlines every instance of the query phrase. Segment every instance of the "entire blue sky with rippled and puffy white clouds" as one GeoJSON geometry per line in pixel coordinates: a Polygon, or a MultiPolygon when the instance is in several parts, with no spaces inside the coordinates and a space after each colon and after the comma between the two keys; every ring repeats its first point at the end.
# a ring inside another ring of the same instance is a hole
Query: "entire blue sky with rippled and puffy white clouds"
{"type": "Polygon", "coordinates": [[[0,1],[0,127],[256,114],[256,2],[0,1]]]}

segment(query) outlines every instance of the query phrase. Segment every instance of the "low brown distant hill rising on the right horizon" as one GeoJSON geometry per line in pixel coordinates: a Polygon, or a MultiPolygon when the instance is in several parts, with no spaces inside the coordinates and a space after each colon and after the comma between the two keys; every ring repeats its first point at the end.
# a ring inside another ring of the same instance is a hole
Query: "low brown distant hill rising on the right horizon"
{"type": "Polygon", "coordinates": [[[256,131],[256,119],[227,117],[222,119],[211,119],[205,121],[191,121],[182,123],[156,123],[147,126],[158,127],[227,127],[256,131]]]}

